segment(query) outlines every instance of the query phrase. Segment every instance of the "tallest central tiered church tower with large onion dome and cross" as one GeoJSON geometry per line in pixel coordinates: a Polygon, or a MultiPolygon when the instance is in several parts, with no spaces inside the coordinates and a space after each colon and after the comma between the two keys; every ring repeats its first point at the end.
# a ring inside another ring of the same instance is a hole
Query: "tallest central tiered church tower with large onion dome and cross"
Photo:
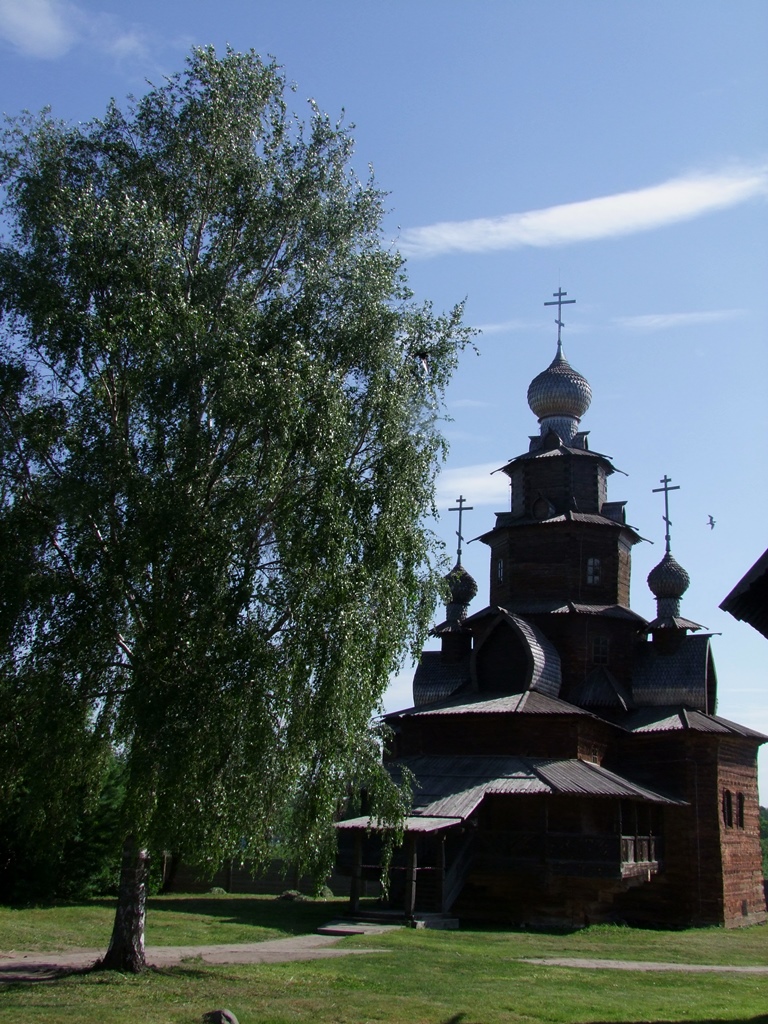
{"type": "MultiPolygon", "coordinates": [[[[609,501],[610,459],[590,451],[581,420],[590,407],[589,382],[565,358],[558,290],[557,351],[530,382],[528,406],[539,433],[528,451],[502,467],[510,480],[510,509],[481,540],[490,548],[490,604],[536,623],[571,654],[563,665],[565,690],[596,666],[629,682],[630,666],[614,641],[642,620],[630,611],[633,545],[625,502],[609,501]]],[[[624,637],[627,634],[627,637],[624,637]]]]}

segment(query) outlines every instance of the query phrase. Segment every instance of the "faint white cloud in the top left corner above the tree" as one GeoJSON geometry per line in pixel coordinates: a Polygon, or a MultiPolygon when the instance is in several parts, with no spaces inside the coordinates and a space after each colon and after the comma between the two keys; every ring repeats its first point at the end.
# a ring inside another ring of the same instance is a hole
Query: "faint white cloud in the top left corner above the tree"
{"type": "Polygon", "coordinates": [[[148,52],[142,30],[65,0],[0,0],[0,39],[25,56],[45,60],[83,45],[118,60],[148,52]]]}

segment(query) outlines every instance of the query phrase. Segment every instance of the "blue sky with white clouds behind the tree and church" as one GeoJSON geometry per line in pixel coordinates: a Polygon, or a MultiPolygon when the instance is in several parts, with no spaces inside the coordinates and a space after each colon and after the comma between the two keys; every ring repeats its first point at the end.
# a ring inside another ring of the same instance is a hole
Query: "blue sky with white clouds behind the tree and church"
{"type": "MultiPolygon", "coordinates": [[[[538,432],[525,395],[563,343],[609,499],[647,539],[632,606],[672,550],[682,613],[716,634],[719,714],[768,733],[768,640],[718,605],[768,547],[768,3],[765,0],[0,0],[0,105],[86,121],[183,67],[196,45],[272,55],[354,125],[387,193],[386,244],[417,299],[466,301],[481,333],[447,394],[434,523],[456,556],[508,508],[493,474],[538,432]],[[709,517],[715,520],[712,528],[709,517]]],[[[487,603],[487,549],[463,562],[487,603]]],[[[438,620],[439,615],[438,609],[438,620]]],[[[412,669],[388,711],[408,707],[412,669]]],[[[768,803],[768,751],[761,755],[768,803]]]]}

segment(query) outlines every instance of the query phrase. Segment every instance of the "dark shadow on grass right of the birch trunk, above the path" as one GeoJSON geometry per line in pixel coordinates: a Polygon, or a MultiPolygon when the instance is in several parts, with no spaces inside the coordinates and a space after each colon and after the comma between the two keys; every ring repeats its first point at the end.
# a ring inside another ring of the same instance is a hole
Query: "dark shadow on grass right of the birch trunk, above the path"
{"type": "Polygon", "coordinates": [[[150,914],[190,913],[231,925],[270,928],[286,935],[314,932],[347,910],[347,901],[284,900],[278,897],[156,896],[146,901],[150,914]]]}

